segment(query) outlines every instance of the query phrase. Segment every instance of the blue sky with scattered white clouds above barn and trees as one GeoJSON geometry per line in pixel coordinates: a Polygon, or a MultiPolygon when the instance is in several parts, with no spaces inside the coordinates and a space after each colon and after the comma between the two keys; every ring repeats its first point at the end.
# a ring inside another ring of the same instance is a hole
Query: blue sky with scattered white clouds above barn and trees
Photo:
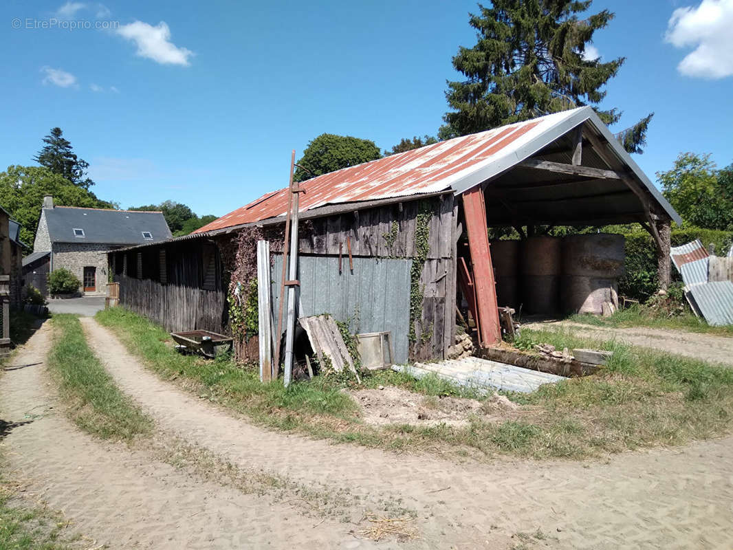
{"type": "MultiPolygon", "coordinates": [[[[485,2],[488,3],[488,2],[485,2]]],[[[616,17],[589,53],[625,56],[604,107],[620,131],[655,113],[637,163],[733,162],[733,0],[595,0],[616,17]]],[[[475,1],[4,0],[0,170],[33,165],[59,126],[92,188],[122,208],[224,215],[287,186],[320,133],[435,135],[475,1]]]]}

